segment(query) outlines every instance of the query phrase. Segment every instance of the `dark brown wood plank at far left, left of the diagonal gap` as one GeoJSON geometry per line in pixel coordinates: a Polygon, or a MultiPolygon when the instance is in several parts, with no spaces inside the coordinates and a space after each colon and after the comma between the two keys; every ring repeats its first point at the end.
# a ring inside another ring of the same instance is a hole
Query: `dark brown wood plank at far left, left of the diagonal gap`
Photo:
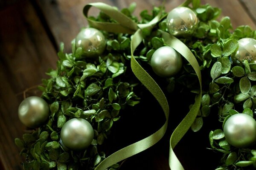
{"type": "Polygon", "coordinates": [[[56,67],[57,56],[28,0],[2,9],[0,15],[0,160],[4,169],[20,170],[14,143],[26,130],[17,115],[20,92],[40,84],[47,69],[56,67]]]}

